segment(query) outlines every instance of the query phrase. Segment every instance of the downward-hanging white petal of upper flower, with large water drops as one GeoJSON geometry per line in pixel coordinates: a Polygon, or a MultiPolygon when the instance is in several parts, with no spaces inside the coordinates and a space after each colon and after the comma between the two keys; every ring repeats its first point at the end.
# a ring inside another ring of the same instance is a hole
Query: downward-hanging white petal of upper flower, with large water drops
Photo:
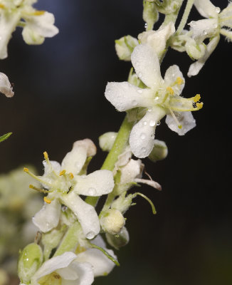
{"type": "Polygon", "coordinates": [[[166,113],[164,109],[154,107],[132,128],[130,133],[130,147],[136,157],[147,157],[154,146],[154,131],[159,120],[166,113]]]}

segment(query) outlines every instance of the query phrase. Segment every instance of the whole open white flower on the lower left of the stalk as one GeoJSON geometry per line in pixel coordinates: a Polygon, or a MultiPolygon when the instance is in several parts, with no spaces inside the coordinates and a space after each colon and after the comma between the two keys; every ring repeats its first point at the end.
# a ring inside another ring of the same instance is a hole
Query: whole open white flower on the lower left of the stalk
{"type": "MultiPolygon", "coordinates": [[[[58,225],[61,204],[69,207],[78,218],[85,237],[93,239],[100,232],[100,222],[95,208],[79,197],[108,194],[114,187],[112,172],[97,170],[89,175],[78,175],[83,171],[87,157],[95,155],[95,145],[91,140],[78,140],[73,150],[63,159],[62,164],[49,161],[45,152],[45,172],[35,177],[48,190],[43,208],[33,217],[33,223],[42,231],[48,232],[58,225]]],[[[28,169],[24,169],[32,175],[28,169]]],[[[31,185],[33,188],[33,186],[31,185]]]]}

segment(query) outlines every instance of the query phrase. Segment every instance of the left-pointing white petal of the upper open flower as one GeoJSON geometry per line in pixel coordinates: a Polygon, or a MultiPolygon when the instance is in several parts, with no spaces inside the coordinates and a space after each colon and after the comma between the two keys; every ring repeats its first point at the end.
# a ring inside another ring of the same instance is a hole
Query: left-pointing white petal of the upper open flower
{"type": "Polygon", "coordinates": [[[120,112],[152,106],[152,94],[152,90],[138,88],[128,82],[109,82],[105,88],[105,98],[120,112]]]}

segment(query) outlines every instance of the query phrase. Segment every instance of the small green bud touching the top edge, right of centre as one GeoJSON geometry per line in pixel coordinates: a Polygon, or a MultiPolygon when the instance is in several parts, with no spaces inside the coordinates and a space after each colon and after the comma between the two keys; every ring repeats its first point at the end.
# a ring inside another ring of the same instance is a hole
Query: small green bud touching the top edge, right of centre
{"type": "Polygon", "coordinates": [[[146,30],[149,31],[153,29],[154,23],[159,20],[159,13],[154,3],[143,1],[143,6],[142,19],[146,22],[146,30]]]}

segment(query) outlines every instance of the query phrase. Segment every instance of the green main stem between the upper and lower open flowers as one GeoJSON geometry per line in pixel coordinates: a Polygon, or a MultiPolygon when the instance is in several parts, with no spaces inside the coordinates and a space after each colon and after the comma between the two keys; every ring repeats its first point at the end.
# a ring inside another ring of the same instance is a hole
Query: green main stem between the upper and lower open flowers
{"type": "MultiPolygon", "coordinates": [[[[115,143],[112,146],[112,149],[108,153],[105,162],[101,167],[102,170],[112,171],[115,168],[115,163],[117,162],[119,155],[122,154],[122,152],[124,152],[125,148],[127,147],[130,131],[132,130],[133,124],[134,124],[133,122],[128,121],[126,116],[122,122],[119,132],[117,133],[117,138],[115,140],[115,143]]],[[[110,197],[110,195],[108,197],[110,197]]],[[[85,202],[91,204],[93,207],[95,207],[97,201],[98,197],[88,196],[85,199],[85,202]]]]}

